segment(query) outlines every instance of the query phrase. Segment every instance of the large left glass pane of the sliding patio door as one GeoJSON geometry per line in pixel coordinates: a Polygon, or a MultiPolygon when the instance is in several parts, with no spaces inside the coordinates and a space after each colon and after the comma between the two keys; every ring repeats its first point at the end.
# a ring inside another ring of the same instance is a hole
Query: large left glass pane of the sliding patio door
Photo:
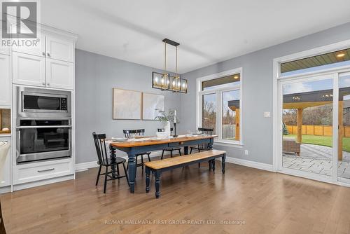
{"type": "Polygon", "coordinates": [[[281,81],[280,170],[332,177],[333,82],[332,75],[281,81]]]}

